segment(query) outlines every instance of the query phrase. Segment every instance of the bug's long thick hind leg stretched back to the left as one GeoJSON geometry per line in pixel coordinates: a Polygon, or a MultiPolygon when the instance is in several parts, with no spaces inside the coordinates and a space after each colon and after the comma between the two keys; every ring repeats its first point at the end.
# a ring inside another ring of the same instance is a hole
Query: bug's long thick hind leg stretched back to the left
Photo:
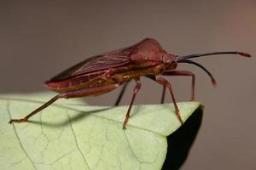
{"type": "Polygon", "coordinates": [[[44,105],[38,107],[35,111],[32,111],[32,113],[28,114],[24,118],[21,119],[11,119],[9,123],[12,122],[27,122],[27,120],[37,114],[39,111],[44,110],[46,107],[49,105],[53,104],[57,99],[60,98],[79,98],[79,97],[85,97],[85,96],[90,96],[90,95],[97,95],[97,94],[105,94],[110,91],[112,91],[115,88],[118,88],[121,85],[121,83],[115,83],[115,84],[110,84],[110,85],[104,85],[104,86],[99,86],[99,87],[93,87],[93,88],[84,88],[72,92],[67,92],[64,94],[58,94],[54,98],[50,99],[48,102],[46,102],[44,105]]]}

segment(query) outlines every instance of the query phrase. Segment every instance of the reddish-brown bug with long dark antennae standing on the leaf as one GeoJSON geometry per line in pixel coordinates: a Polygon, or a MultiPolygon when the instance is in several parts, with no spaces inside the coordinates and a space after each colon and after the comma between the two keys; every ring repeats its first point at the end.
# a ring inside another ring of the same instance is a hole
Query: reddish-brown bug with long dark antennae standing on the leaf
{"type": "Polygon", "coordinates": [[[164,102],[166,88],[169,89],[173,104],[175,106],[177,118],[181,123],[183,123],[172,92],[172,85],[160,75],[192,77],[191,100],[194,100],[195,75],[190,71],[175,71],[177,68],[177,63],[189,63],[199,66],[203,71],[207,72],[208,76],[212,80],[212,84],[216,85],[216,81],[212,77],[212,74],[207,71],[205,67],[196,63],[195,61],[189,60],[191,58],[215,54],[240,54],[245,57],[250,57],[250,54],[236,51],[177,56],[166,53],[166,51],[161,48],[160,43],[156,40],[146,38],[142,42],[138,42],[131,47],[121,48],[85,59],[83,62],[67,69],[67,71],[61,72],[61,74],[53,77],[48,82],[45,82],[45,86],[47,88],[52,89],[59,94],[57,94],[53,99],[50,99],[37,110],[32,111],[32,113],[24,118],[12,119],[9,123],[26,122],[31,116],[38,113],[38,111],[42,111],[44,108],[54,103],[56,99],[79,98],[90,95],[105,94],[115,88],[119,88],[119,86],[125,83],[124,88],[119,94],[119,98],[116,102],[116,105],[118,105],[127,85],[126,82],[134,79],[136,81],[136,86],[133,90],[131,103],[123,123],[123,128],[125,128],[130,116],[131,106],[137,92],[141,88],[140,77],[148,77],[163,85],[164,90],[161,103],[164,102]]]}

